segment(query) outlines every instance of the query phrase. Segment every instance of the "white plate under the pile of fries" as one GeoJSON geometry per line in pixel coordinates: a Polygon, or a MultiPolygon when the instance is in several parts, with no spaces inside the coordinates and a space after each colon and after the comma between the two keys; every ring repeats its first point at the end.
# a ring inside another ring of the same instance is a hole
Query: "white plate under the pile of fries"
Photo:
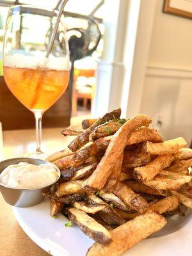
{"type": "MultiPolygon", "coordinates": [[[[65,216],[49,216],[49,200],[28,208],[13,207],[13,212],[20,227],[36,243],[54,256],[84,256],[93,240],[84,235],[76,226],[65,227],[65,216]]],[[[192,252],[192,215],[188,211],[177,229],[166,236],[148,238],[133,246],[123,255],[131,256],[180,256],[192,252]]],[[[170,218],[168,228],[174,228],[177,216],[170,218]]],[[[112,256],[112,255],[109,255],[112,256]]]]}

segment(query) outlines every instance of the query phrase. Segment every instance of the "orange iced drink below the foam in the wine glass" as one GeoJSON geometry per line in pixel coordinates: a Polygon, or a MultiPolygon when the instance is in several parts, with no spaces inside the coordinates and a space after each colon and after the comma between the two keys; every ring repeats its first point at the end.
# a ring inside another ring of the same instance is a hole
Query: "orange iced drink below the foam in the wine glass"
{"type": "Polygon", "coordinates": [[[67,89],[69,71],[4,66],[4,79],[13,95],[26,108],[45,111],[67,89]]]}

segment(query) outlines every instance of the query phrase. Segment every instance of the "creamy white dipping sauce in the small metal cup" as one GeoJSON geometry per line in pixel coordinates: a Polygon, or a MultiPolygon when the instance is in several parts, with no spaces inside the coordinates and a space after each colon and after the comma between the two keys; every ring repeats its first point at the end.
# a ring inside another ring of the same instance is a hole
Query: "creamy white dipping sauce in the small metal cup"
{"type": "Polygon", "coordinates": [[[20,162],[6,167],[0,175],[0,182],[12,188],[41,188],[52,184],[58,173],[49,164],[20,162]]]}

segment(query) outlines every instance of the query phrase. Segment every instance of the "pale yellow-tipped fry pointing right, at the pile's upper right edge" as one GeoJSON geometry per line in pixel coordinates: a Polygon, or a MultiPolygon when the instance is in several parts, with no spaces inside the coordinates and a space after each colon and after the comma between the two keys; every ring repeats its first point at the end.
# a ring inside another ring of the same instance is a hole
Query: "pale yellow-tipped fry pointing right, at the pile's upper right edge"
{"type": "Polygon", "coordinates": [[[188,145],[188,142],[182,137],[164,141],[162,143],[152,143],[147,141],[143,145],[142,151],[148,152],[151,155],[175,154],[179,151],[179,148],[185,147],[186,145],[188,145]]]}

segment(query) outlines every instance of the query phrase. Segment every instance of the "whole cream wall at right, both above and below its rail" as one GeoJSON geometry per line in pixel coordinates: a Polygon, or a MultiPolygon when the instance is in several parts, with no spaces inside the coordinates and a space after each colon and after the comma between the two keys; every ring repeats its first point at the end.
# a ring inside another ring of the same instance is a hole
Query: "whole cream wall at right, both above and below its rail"
{"type": "Polygon", "coordinates": [[[161,121],[164,138],[192,139],[192,20],[162,12],[156,1],[140,111],[161,121]]]}

